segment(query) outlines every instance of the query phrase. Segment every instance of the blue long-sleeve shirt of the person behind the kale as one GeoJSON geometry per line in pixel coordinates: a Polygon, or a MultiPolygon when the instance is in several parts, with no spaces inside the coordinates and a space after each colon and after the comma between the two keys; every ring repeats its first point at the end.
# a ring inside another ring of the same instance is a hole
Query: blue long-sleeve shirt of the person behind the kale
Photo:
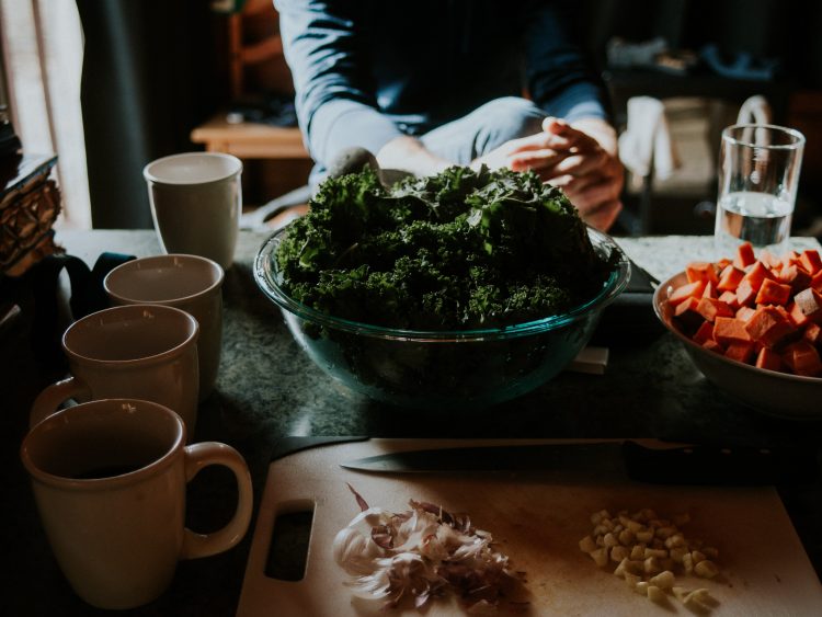
{"type": "Polygon", "coordinates": [[[568,1],[274,0],[312,158],[372,152],[527,92],[547,115],[605,117],[568,1]]]}

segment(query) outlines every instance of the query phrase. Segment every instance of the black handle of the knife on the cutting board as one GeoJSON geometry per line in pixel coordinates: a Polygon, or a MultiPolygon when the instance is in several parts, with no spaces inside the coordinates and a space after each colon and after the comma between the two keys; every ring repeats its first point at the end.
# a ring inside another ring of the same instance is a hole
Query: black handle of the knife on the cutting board
{"type": "Polygon", "coordinates": [[[815,449],[754,446],[649,448],[623,444],[628,476],[655,484],[800,484],[819,477],[815,449]]]}

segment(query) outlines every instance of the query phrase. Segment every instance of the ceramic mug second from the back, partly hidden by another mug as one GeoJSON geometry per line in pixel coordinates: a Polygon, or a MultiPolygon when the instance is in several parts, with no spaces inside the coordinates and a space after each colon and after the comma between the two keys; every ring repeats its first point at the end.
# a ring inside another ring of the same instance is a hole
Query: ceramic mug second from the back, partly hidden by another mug
{"type": "Polygon", "coordinates": [[[113,305],[158,304],[191,313],[199,324],[199,400],[214,389],[222,344],[220,265],[198,255],[158,255],[112,270],[103,286],[113,305]]]}

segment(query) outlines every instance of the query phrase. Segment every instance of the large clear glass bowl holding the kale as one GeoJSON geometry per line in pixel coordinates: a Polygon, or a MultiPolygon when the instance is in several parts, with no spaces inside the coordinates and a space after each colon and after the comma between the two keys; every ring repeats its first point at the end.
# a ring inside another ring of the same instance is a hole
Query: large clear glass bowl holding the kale
{"type": "Polygon", "coordinates": [[[292,335],[331,377],[372,399],[416,409],[477,409],[541,386],[589,342],[603,309],[628,283],[630,264],[608,236],[589,228],[597,254],[616,267],[600,293],[568,312],[505,328],[398,330],[326,315],[283,290],[277,247],[288,226],[260,249],[254,278],[279,306],[292,335]]]}

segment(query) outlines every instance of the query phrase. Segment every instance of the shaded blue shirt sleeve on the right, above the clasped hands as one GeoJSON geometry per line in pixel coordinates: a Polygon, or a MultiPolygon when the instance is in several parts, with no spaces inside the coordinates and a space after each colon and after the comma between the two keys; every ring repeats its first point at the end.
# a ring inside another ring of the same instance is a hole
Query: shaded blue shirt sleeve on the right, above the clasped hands
{"type": "Polygon", "coordinates": [[[546,114],[573,122],[607,119],[604,87],[578,44],[573,2],[536,2],[526,25],[528,91],[546,114]]]}

